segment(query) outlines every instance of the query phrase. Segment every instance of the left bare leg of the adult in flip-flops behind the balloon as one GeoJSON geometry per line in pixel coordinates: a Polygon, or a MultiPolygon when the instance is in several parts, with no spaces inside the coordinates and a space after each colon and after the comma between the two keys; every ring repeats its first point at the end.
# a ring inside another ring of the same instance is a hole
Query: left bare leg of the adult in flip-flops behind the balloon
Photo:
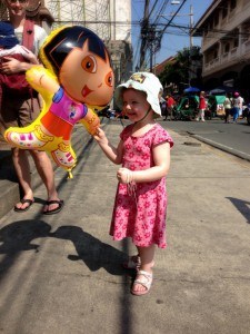
{"type": "MultiPolygon", "coordinates": [[[[31,188],[31,176],[30,176],[30,165],[27,156],[27,151],[12,148],[12,160],[14,170],[19,180],[19,184],[23,191],[23,199],[33,200],[33,191],[31,188]]],[[[20,209],[24,209],[29,206],[28,203],[19,202],[16,207],[20,209]]]]}

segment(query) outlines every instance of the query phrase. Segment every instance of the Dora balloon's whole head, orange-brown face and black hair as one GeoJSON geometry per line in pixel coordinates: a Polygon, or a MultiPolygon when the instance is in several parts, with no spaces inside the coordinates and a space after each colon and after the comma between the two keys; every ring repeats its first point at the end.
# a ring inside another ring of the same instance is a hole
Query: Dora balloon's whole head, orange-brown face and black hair
{"type": "Polygon", "coordinates": [[[44,46],[41,59],[50,61],[59,82],[72,99],[98,107],[109,104],[113,94],[113,71],[103,42],[91,30],[78,26],[63,29],[44,46]]]}

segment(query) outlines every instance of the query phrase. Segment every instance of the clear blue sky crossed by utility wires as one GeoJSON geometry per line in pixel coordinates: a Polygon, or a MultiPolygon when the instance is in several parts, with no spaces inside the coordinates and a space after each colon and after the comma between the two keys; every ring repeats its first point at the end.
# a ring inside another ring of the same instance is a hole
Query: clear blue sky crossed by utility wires
{"type": "MultiPolygon", "coordinates": [[[[164,11],[158,17],[157,29],[164,29],[164,24],[168,23],[168,20],[172,19],[174,11],[178,10],[180,4],[171,4],[172,0],[150,0],[150,9],[152,9],[152,4],[157,3],[154,10],[152,11],[150,23],[153,23],[159,14],[159,10],[163,3],[167,3],[164,11]]],[[[181,3],[182,1],[180,1],[181,3]]],[[[190,27],[191,19],[192,26],[196,24],[199,19],[202,17],[204,11],[212,3],[212,0],[187,0],[186,3],[182,6],[181,10],[178,12],[178,16],[174,17],[172,23],[177,26],[184,26],[190,27]],[[190,16],[192,8],[193,16],[190,16]]],[[[143,10],[144,10],[144,0],[131,0],[131,11],[132,11],[132,46],[133,46],[133,55],[134,55],[134,66],[139,62],[140,56],[140,24],[143,18],[143,10]]],[[[193,46],[200,46],[201,39],[193,38],[192,40],[193,46]]],[[[187,30],[181,28],[167,28],[166,32],[163,33],[161,40],[161,49],[154,55],[153,57],[153,65],[160,63],[163,60],[168,59],[171,56],[174,56],[177,51],[182,50],[183,48],[190,47],[190,37],[187,33],[187,30]]]]}

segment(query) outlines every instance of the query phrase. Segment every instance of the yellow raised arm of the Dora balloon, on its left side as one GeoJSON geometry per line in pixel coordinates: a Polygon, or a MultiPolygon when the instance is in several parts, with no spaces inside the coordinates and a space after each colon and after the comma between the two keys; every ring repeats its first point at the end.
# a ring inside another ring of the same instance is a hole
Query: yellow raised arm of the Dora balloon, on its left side
{"type": "Polygon", "coordinates": [[[42,66],[33,66],[26,72],[27,81],[42,96],[53,95],[60,88],[57,78],[42,66]]]}

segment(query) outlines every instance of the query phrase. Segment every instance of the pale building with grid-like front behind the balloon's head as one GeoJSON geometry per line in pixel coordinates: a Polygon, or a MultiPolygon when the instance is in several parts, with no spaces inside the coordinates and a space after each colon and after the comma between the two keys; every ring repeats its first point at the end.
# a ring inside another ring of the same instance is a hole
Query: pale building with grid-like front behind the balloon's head
{"type": "MultiPolygon", "coordinates": [[[[29,0],[27,14],[49,33],[64,24],[81,24],[106,43],[112,60],[116,85],[132,71],[131,0],[29,0]]],[[[1,20],[8,20],[0,1],[1,20]]]]}

